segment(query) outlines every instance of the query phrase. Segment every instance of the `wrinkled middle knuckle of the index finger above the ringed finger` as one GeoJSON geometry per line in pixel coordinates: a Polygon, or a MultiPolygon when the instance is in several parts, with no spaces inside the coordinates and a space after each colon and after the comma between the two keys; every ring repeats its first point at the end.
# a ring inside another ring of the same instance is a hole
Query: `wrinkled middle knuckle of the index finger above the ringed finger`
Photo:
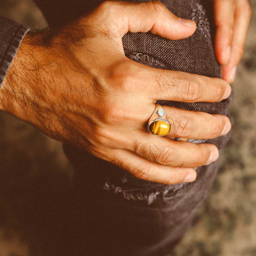
{"type": "Polygon", "coordinates": [[[184,79],[181,84],[182,98],[187,101],[197,101],[202,95],[202,86],[198,82],[184,79]]]}

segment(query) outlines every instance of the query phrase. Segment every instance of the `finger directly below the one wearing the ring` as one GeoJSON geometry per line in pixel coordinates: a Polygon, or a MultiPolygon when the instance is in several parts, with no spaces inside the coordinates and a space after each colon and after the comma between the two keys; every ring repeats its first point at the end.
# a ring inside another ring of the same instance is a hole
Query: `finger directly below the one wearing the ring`
{"type": "Polygon", "coordinates": [[[145,132],[135,137],[133,145],[131,150],[142,158],[172,167],[198,167],[219,158],[219,151],[213,144],[178,142],[145,132]]]}

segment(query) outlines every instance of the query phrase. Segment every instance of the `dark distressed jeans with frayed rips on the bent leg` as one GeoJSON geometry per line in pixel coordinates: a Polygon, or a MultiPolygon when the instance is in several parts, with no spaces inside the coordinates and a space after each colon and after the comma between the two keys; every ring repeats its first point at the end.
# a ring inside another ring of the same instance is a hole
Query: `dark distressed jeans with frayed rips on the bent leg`
{"type": "MultiPolygon", "coordinates": [[[[127,57],[157,68],[221,77],[221,67],[214,55],[213,15],[208,1],[161,1],[174,14],[196,21],[196,32],[178,41],[151,33],[128,33],[123,38],[127,57]]],[[[38,3],[52,27],[62,25],[63,19],[68,21],[82,15],[87,8],[80,0],[72,2],[72,6],[69,0],[63,1],[60,7],[57,2],[38,3]]],[[[233,94],[218,103],[158,103],[227,115],[232,98],[233,94]]],[[[213,143],[222,149],[229,135],[190,142],[213,143]]],[[[78,243],[74,255],[170,255],[191,224],[195,210],[207,197],[218,170],[215,162],[198,167],[197,179],[192,183],[164,185],[140,180],[69,145],[64,145],[64,150],[76,170],[73,197],[76,208],[72,214],[78,222],[71,224],[76,232],[70,234],[78,243]]]]}

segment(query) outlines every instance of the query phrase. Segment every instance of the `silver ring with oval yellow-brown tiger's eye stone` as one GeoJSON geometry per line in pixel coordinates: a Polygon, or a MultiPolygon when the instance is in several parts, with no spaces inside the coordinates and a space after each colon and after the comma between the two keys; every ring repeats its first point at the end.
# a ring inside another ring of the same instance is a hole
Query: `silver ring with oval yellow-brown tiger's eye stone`
{"type": "Polygon", "coordinates": [[[171,130],[171,124],[167,120],[164,108],[159,104],[156,104],[154,113],[149,118],[148,130],[156,136],[165,136],[171,130]]]}

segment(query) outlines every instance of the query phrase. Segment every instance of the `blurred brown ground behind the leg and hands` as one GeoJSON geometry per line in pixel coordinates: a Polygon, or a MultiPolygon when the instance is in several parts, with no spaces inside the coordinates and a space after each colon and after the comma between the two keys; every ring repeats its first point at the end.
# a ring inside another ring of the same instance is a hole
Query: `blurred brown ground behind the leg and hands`
{"type": "MultiPolygon", "coordinates": [[[[249,35],[232,85],[233,134],[213,189],[174,256],[256,256],[256,0],[250,2],[249,35]]],[[[1,0],[0,14],[32,30],[47,27],[32,0],[1,0]]],[[[68,198],[73,175],[62,144],[0,112],[0,146],[0,256],[61,255],[56,247],[67,241],[58,238],[56,220],[65,216],[51,212],[65,208],[61,198],[68,198]],[[48,238],[49,227],[56,237],[48,238]]]]}

